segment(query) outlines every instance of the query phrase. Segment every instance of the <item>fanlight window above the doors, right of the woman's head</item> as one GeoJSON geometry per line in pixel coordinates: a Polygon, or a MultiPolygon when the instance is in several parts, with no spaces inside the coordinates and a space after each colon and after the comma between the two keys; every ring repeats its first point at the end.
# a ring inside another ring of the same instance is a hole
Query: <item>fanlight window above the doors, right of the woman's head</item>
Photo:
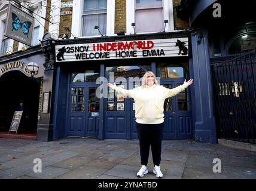
{"type": "Polygon", "coordinates": [[[157,70],[161,78],[186,78],[188,63],[159,64],[157,70]]]}

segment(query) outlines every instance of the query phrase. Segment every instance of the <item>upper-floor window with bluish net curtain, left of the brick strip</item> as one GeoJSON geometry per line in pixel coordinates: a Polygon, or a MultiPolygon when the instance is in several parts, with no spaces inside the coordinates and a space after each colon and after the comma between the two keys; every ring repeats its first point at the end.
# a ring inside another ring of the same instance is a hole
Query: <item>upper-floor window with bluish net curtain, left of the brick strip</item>
{"type": "Polygon", "coordinates": [[[83,36],[106,35],[106,7],[106,0],[84,0],[83,36]]]}

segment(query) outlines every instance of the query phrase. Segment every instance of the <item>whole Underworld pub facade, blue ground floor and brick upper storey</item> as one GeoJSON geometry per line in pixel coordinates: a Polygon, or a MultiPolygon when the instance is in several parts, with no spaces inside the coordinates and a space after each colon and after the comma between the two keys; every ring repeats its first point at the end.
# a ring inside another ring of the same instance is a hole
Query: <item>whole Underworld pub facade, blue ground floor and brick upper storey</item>
{"type": "Polygon", "coordinates": [[[133,99],[112,92],[106,82],[136,88],[136,80],[151,70],[167,88],[194,78],[193,85],[164,101],[163,138],[217,143],[211,73],[193,54],[188,21],[177,17],[180,3],[54,2],[58,11],[51,17],[57,22],[48,23],[38,52],[42,85],[36,139],[138,138],[133,99]]]}

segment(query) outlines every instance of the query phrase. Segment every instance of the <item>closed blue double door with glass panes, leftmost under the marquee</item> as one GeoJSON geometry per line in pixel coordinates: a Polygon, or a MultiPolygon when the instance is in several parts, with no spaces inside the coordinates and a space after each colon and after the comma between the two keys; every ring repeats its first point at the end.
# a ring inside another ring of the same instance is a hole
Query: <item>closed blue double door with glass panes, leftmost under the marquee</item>
{"type": "Polygon", "coordinates": [[[98,137],[99,98],[95,84],[71,85],[69,88],[67,136],[98,137]]]}

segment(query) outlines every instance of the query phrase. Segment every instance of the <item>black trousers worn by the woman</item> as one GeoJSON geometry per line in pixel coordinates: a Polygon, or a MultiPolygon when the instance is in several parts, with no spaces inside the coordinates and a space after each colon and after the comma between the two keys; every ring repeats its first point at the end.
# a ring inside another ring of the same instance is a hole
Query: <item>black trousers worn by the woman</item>
{"type": "Polygon", "coordinates": [[[147,166],[150,146],[153,163],[159,166],[161,162],[161,140],[163,139],[163,123],[161,124],[138,124],[136,123],[139,147],[141,152],[141,165],[147,166]]]}

